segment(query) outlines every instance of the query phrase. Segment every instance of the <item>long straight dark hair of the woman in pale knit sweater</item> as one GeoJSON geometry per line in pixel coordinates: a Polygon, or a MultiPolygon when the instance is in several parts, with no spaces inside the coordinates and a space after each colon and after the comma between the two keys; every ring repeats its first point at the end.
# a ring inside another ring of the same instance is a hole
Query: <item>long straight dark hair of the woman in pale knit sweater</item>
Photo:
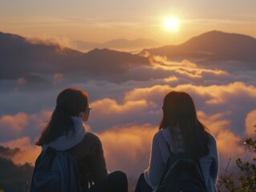
{"type": "Polygon", "coordinates": [[[159,129],[169,128],[172,139],[177,139],[176,126],[181,129],[186,153],[197,158],[209,154],[208,130],[197,118],[193,99],[182,91],[170,91],[165,95],[159,129]]]}

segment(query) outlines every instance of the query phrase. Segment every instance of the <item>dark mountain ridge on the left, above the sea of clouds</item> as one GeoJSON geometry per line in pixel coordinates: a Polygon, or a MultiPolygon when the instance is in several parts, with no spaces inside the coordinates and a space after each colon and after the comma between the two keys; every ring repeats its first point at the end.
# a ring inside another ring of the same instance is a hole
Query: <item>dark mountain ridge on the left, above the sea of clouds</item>
{"type": "Polygon", "coordinates": [[[104,77],[149,63],[147,58],[135,54],[107,49],[84,54],[59,45],[33,44],[21,36],[4,33],[0,33],[0,53],[0,79],[75,72],[86,77],[104,77]]]}

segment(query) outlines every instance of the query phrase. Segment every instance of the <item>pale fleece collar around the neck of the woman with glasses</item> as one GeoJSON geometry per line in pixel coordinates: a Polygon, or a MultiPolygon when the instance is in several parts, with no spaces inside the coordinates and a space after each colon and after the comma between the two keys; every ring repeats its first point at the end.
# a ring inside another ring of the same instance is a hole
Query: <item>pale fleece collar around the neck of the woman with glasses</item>
{"type": "Polygon", "coordinates": [[[74,122],[75,134],[72,134],[72,131],[68,131],[66,134],[59,136],[54,141],[44,144],[42,150],[46,150],[48,146],[51,146],[55,150],[68,150],[73,146],[82,142],[84,135],[86,133],[85,126],[82,119],[77,117],[71,117],[74,122]]]}

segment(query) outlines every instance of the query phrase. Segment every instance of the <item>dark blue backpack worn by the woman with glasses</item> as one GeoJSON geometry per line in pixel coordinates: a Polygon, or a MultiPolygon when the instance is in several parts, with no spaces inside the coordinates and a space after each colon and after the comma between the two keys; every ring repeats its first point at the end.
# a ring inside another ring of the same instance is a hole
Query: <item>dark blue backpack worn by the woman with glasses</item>
{"type": "Polygon", "coordinates": [[[75,155],[51,147],[35,162],[30,192],[82,192],[75,155]]]}

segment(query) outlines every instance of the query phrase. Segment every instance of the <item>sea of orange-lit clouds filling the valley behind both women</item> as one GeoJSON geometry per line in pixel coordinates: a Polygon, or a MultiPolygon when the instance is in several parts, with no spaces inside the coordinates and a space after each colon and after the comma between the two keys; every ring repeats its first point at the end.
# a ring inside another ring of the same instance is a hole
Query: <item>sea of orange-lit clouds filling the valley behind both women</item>
{"type": "Polygon", "coordinates": [[[165,94],[183,90],[193,97],[198,118],[217,138],[220,171],[225,170],[229,158],[233,165],[236,157],[251,158],[243,142],[254,137],[256,122],[256,71],[246,70],[242,62],[239,70],[234,70],[232,63],[213,67],[153,57],[151,66],[137,66],[122,74],[122,82],[113,81],[115,77],[83,82],[54,74],[47,76],[53,88],[36,91],[22,90],[26,84],[22,78],[2,81],[0,145],[21,149],[11,158],[14,162],[34,164],[41,150],[35,141],[55,108],[55,98],[64,88],[76,86],[90,94],[87,131],[100,137],[108,170],[138,176],[148,166],[165,94]]]}

